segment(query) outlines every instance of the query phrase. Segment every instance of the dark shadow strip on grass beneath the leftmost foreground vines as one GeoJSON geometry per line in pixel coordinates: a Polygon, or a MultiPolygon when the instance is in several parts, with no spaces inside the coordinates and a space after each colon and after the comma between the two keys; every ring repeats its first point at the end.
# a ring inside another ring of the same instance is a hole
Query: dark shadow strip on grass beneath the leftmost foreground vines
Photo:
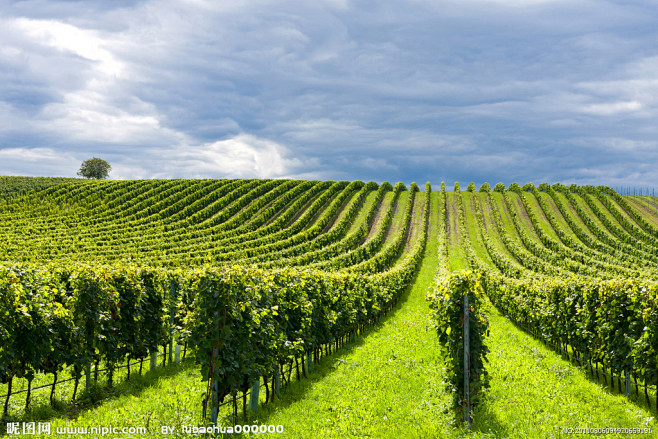
{"type": "MultiPolygon", "coordinates": [[[[161,378],[170,378],[189,368],[195,367],[192,356],[188,356],[182,360],[180,364],[168,364],[166,366],[159,366],[155,371],[147,371],[142,375],[133,373],[130,380],[122,380],[115,383],[114,386],[94,384],[89,389],[84,389],[78,392],[78,397],[74,401],[62,400],[55,398],[53,405],[49,402],[44,402],[44,398],[33,401],[27,411],[19,414],[12,414],[11,412],[5,416],[0,417],[0,436],[6,435],[6,423],[8,422],[43,422],[56,418],[75,419],[78,414],[101,406],[105,401],[118,398],[121,396],[139,396],[146,389],[155,386],[161,378]]],[[[82,380],[83,381],[83,380],[82,380]]],[[[48,389],[42,389],[45,393],[49,394],[48,389]]],[[[18,399],[18,396],[14,396],[18,399]]],[[[22,400],[24,402],[24,399],[22,400]]],[[[4,401],[3,401],[4,402],[4,401]]],[[[16,408],[16,403],[12,404],[16,408]]]]}

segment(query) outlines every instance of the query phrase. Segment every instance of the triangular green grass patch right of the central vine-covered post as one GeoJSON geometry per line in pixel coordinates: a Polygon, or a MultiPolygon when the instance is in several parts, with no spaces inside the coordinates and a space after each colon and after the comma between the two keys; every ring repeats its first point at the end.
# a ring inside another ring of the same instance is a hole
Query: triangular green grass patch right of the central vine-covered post
{"type": "MultiPolygon", "coordinates": [[[[658,423],[648,410],[611,394],[489,306],[491,388],[475,413],[473,437],[554,438],[563,428],[651,427],[658,423]]],[[[605,437],[629,437],[607,435],[605,437]]]]}

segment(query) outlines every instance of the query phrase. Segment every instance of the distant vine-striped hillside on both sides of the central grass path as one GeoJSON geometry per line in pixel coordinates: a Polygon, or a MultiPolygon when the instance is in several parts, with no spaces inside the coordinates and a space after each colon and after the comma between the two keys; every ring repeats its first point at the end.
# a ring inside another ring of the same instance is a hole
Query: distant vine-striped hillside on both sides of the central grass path
{"type": "MultiPolygon", "coordinates": [[[[388,183],[378,190],[375,183],[292,180],[3,177],[1,182],[0,261],[5,263],[239,262],[335,270],[357,266],[380,251],[397,257],[420,236],[422,199],[410,200],[403,186],[398,195],[388,183]],[[393,242],[398,232],[406,242],[393,242]]],[[[476,262],[466,260],[460,245],[460,227],[466,227],[477,264],[560,275],[655,277],[654,199],[559,185],[526,189],[448,193],[453,269],[476,262]],[[546,266],[557,258],[565,262],[562,267],[546,266]]]]}

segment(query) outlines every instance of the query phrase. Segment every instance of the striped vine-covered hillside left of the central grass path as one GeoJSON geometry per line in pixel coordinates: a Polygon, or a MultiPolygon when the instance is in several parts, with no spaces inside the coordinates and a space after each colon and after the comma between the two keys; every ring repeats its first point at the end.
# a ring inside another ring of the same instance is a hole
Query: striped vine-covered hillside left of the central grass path
{"type": "Polygon", "coordinates": [[[390,266],[421,236],[423,199],[402,184],[394,190],[388,183],[288,180],[57,183],[0,202],[2,261],[335,270],[380,250],[390,266]],[[343,262],[328,263],[343,253],[343,262]]]}

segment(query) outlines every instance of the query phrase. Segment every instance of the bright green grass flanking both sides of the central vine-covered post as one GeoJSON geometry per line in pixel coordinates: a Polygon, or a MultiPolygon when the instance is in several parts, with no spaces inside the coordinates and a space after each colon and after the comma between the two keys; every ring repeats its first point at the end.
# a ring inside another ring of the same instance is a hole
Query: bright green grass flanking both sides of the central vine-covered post
{"type": "Polygon", "coordinates": [[[658,432],[650,411],[607,392],[491,305],[491,388],[473,430],[464,430],[450,409],[437,338],[428,330],[424,296],[438,263],[436,224],[430,236],[416,282],[395,313],[325,359],[309,380],[294,383],[259,422],[284,425],[290,438],[554,438],[571,437],[562,430],[570,427],[658,432]]]}

